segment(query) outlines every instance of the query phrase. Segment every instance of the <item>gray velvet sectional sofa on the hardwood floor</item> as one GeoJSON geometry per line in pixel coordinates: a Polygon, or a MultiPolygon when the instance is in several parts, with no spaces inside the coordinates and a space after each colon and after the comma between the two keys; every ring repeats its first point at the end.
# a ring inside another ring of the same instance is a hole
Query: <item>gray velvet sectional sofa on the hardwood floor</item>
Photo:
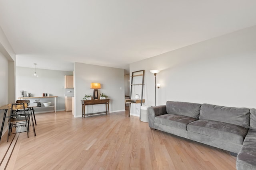
{"type": "Polygon", "coordinates": [[[167,101],[148,108],[148,124],[236,153],[237,170],[256,170],[256,109],[167,101]]]}

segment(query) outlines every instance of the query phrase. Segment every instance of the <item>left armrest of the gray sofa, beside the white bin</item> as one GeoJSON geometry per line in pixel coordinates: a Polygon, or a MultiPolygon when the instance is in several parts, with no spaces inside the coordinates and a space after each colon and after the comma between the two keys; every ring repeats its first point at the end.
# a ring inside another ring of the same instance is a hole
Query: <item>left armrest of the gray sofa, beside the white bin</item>
{"type": "Polygon", "coordinates": [[[166,105],[154,106],[148,108],[148,125],[154,128],[155,117],[167,114],[166,105]]]}

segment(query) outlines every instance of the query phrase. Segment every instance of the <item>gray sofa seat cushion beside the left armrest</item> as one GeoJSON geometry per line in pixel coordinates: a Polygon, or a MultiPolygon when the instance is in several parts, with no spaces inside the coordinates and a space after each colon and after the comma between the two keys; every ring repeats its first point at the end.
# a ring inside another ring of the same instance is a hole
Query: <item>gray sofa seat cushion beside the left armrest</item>
{"type": "Polygon", "coordinates": [[[183,130],[187,130],[187,124],[195,120],[192,117],[174,114],[164,114],[155,117],[156,123],[183,130]]]}

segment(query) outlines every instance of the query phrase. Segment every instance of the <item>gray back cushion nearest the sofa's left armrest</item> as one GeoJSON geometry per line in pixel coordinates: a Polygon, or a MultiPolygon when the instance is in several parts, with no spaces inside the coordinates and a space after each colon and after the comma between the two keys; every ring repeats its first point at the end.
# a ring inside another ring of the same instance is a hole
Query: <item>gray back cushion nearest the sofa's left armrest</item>
{"type": "Polygon", "coordinates": [[[166,102],[166,111],[168,114],[183,115],[198,119],[201,104],[188,102],[166,102]]]}

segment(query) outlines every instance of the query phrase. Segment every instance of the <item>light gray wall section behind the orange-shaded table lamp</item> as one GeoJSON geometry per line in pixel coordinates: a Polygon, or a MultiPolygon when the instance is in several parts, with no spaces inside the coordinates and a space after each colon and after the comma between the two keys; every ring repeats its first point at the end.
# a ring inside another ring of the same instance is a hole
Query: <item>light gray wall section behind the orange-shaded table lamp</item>
{"type": "MultiPolygon", "coordinates": [[[[124,111],[124,69],[91,64],[75,63],[74,87],[75,87],[75,113],[74,117],[82,116],[81,100],[84,95],[92,95],[91,82],[99,82],[101,89],[110,99],[110,112],[124,111]]],[[[86,106],[86,113],[104,111],[105,105],[86,106]]]]}

